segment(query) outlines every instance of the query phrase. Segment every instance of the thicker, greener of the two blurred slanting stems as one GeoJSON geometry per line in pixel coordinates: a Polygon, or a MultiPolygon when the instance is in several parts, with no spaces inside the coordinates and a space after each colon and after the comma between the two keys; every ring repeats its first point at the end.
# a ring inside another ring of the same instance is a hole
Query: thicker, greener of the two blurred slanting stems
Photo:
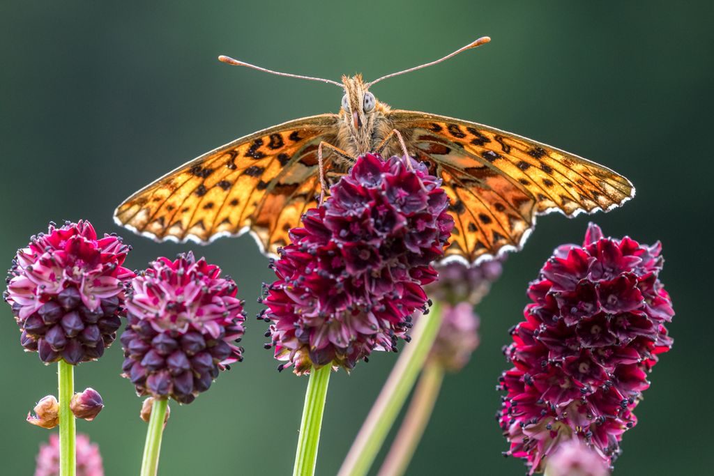
{"type": "Polygon", "coordinates": [[[387,383],[362,424],[338,476],[364,476],[377,456],[389,429],[406,401],[423,368],[431,345],[441,325],[441,308],[435,303],[431,312],[416,321],[412,342],[404,346],[387,383]]]}

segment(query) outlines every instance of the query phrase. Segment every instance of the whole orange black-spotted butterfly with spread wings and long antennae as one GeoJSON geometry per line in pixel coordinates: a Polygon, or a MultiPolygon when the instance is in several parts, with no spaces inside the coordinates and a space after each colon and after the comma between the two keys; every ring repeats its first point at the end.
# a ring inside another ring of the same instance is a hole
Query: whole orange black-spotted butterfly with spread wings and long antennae
{"type": "Polygon", "coordinates": [[[619,206],[635,189],[609,168],[491,126],[402,111],[378,101],[378,81],[485,44],[485,36],[431,63],[363,81],[280,73],[221,56],[227,64],[323,81],[344,91],[338,113],[288,121],[204,153],[142,188],[114,212],[116,223],[155,240],[208,243],[250,232],[275,255],[288,231],[363,153],[408,153],[443,180],[456,222],[446,260],[468,263],[519,250],[538,215],[619,206]]]}

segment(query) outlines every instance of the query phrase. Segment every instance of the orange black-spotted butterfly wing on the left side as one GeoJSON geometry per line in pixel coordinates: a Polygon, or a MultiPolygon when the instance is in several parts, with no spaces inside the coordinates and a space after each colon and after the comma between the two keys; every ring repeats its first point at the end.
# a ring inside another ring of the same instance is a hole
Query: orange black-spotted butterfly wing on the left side
{"type": "MultiPolygon", "coordinates": [[[[274,254],[316,206],[317,149],[333,143],[337,118],[289,121],[205,153],[127,198],[114,221],[159,241],[207,243],[250,231],[274,254]]],[[[332,166],[327,156],[326,172],[332,166]]]]}

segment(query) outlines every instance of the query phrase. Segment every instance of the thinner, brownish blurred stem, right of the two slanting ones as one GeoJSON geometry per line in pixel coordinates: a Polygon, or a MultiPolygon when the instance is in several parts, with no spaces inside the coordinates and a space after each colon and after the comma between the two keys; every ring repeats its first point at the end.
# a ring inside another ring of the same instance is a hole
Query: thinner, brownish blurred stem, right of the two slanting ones
{"type": "Polygon", "coordinates": [[[426,365],[414,389],[409,407],[392,447],[377,476],[401,476],[411,462],[441,390],[444,370],[441,365],[426,365]]]}

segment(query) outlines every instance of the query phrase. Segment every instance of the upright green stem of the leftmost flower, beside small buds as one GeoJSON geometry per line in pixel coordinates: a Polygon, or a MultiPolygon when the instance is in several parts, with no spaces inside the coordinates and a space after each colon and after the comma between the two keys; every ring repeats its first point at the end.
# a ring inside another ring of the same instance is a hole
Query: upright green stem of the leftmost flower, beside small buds
{"type": "Polygon", "coordinates": [[[57,383],[59,393],[59,474],[74,476],[76,473],[76,453],[74,440],[74,413],[69,408],[74,395],[74,365],[64,359],[57,363],[57,383]]]}

